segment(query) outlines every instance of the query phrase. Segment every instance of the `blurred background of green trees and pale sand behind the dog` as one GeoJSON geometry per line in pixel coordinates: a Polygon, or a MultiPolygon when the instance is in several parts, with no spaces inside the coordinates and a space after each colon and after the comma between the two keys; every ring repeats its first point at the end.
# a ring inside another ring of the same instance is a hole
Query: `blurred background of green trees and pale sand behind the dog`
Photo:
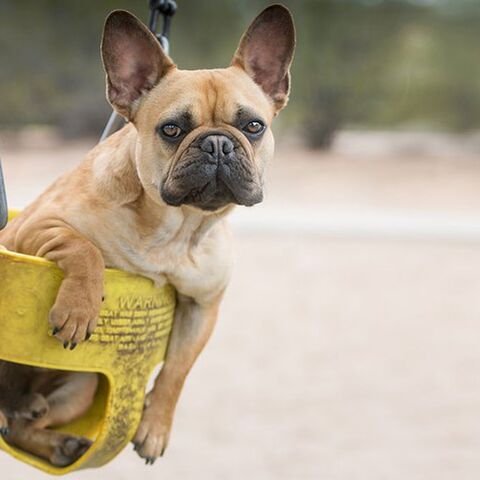
{"type": "MultiPolygon", "coordinates": [[[[0,0],[12,207],[98,141],[104,18],[147,3],[0,0]]],[[[228,65],[269,3],[178,0],[171,55],[228,65]]],[[[232,216],[234,276],[169,450],[72,479],[480,475],[480,0],[283,3],[298,48],[267,199],[232,216]]]]}

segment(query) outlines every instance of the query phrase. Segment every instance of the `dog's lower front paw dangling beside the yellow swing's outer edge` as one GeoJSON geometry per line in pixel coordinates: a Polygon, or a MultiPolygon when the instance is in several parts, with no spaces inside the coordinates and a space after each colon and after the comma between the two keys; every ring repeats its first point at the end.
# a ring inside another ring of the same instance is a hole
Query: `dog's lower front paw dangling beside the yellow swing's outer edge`
{"type": "Polygon", "coordinates": [[[147,465],[163,456],[170,437],[171,420],[162,418],[152,406],[143,411],[142,420],[133,439],[134,449],[147,465]]]}

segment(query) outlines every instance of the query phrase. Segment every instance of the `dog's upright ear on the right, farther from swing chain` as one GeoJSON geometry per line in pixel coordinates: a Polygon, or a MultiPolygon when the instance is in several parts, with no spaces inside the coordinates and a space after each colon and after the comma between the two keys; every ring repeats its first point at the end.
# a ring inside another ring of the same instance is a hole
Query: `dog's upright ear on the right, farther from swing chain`
{"type": "Polygon", "coordinates": [[[295,26],[290,11],[272,5],[243,34],[232,60],[273,100],[276,112],[288,101],[290,64],[295,50],[295,26]]]}

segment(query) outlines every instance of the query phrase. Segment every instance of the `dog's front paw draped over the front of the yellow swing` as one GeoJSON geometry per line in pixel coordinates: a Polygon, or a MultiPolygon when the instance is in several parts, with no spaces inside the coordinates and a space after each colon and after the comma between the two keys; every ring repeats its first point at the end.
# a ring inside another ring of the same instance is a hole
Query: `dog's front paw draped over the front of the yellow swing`
{"type": "Polygon", "coordinates": [[[52,334],[73,350],[88,340],[97,324],[102,292],[91,291],[88,285],[65,282],[60,287],[55,305],[50,310],[52,334]]]}

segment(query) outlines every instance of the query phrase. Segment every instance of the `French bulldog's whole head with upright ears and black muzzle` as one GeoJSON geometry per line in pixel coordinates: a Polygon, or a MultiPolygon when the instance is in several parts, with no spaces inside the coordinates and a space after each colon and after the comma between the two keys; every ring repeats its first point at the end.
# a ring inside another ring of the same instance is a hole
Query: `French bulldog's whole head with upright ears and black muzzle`
{"type": "Polygon", "coordinates": [[[135,124],[137,171],[153,198],[204,212],[262,201],[270,125],[288,99],[294,44],[290,13],[276,5],[253,21],[230,67],[184,71],[133,15],[110,14],[107,96],[135,124]]]}

